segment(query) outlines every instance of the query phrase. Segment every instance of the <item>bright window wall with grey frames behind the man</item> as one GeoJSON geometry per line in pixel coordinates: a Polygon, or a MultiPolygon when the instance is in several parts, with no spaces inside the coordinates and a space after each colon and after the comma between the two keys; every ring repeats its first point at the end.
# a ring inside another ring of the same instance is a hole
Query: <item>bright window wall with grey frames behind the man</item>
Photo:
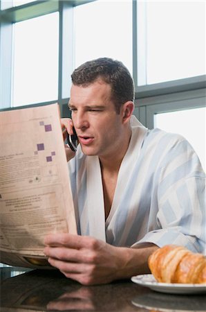
{"type": "Polygon", "coordinates": [[[0,110],[58,102],[99,57],[135,82],[135,116],[180,133],[205,168],[205,1],[0,1],[0,110]]]}

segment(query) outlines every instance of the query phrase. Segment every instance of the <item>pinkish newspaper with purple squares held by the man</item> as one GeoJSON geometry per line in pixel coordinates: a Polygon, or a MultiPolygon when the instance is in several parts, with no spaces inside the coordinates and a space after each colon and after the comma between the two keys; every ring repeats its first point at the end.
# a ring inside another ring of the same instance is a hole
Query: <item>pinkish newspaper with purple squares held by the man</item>
{"type": "Polygon", "coordinates": [[[1,263],[47,268],[44,237],[77,233],[57,104],[0,112],[1,263]]]}

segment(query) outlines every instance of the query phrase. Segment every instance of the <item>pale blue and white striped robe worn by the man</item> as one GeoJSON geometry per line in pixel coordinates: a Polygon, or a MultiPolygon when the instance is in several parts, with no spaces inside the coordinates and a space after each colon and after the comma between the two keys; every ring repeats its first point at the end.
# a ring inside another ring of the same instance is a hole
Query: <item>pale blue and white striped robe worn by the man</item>
{"type": "Polygon", "coordinates": [[[206,254],[205,173],[194,149],[135,116],[131,128],[106,222],[99,158],[78,146],[68,162],[78,233],[115,246],[173,243],[206,254]]]}

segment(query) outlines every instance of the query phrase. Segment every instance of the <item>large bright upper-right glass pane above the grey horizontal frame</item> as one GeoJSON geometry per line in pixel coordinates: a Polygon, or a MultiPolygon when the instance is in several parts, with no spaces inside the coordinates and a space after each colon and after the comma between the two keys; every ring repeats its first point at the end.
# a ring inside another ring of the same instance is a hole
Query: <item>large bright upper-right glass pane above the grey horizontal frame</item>
{"type": "Polygon", "coordinates": [[[204,75],[205,1],[145,1],[144,12],[147,78],[138,85],[204,75]]]}

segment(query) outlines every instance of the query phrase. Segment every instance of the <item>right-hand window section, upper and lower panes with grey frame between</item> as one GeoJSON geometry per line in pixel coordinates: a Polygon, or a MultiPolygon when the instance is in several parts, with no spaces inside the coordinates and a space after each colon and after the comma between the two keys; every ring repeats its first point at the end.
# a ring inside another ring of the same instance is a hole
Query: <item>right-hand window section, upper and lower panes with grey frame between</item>
{"type": "Polygon", "coordinates": [[[135,112],[149,129],[186,137],[205,168],[205,1],[138,1],[135,9],[135,112]]]}

